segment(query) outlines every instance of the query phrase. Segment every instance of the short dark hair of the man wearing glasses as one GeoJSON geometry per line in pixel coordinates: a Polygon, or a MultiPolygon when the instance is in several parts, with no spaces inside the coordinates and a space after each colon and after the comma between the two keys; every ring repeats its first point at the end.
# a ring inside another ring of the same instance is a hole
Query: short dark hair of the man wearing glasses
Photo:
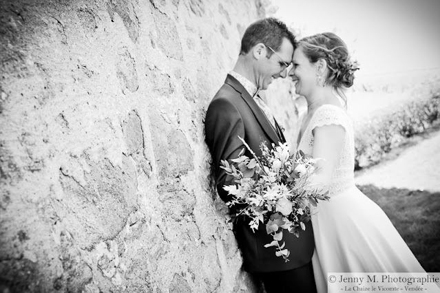
{"type": "MultiPolygon", "coordinates": [[[[249,25],[249,28],[244,32],[240,55],[249,53],[251,48],[258,43],[264,43],[277,52],[280,50],[284,38],[288,39],[295,49],[295,36],[282,21],[273,17],[260,19],[249,25]]],[[[273,53],[271,50],[268,51],[269,58],[273,53]]]]}

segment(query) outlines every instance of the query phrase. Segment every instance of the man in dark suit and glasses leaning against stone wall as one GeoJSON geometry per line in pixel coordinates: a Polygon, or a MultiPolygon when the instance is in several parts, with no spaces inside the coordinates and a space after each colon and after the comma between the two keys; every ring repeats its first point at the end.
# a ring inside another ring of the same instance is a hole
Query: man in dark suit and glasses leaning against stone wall
{"type": "MultiPolygon", "coordinates": [[[[238,61],[229,72],[224,85],[217,92],[205,119],[206,142],[215,165],[218,195],[228,202],[231,197],[224,185],[234,184],[233,177],[220,169],[220,160],[238,157],[244,144],[249,144],[256,155],[262,155],[260,143],[285,142],[284,135],[271,110],[260,98],[260,89],[267,89],[274,78],[285,78],[286,67],[292,62],[295,37],[277,19],[262,19],[252,23],[242,38],[238,61]]],[[[251,158],[251,153],[245,155],[251,158]]],[[[231,213],[236,213],[231,208],[231,213]]],[[[300,237],[284,230],[285,248],[291,252],[290,261],[275,256],[275,248],[264,248],[271,243],[265,226],[260,224],[255,233],[249,219],[242,217],[234,224],[235,237],[242,251],[244,270],[253,273],[263,283],[266,292],[316,292],[311,257],[315,248],[310,221],[300,237]]]]}

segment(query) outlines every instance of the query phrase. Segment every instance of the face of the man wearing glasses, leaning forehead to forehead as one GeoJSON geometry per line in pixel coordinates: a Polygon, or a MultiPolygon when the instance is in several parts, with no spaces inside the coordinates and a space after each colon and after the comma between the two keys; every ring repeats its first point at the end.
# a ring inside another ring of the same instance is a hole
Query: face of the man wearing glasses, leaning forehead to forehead
{"type": "Polygon", "coordinates": [[[258,60],[256,70],[257,87],[267,89],[275,78],[286,77],[286,65],[292,62],[293,45],[288,39],[283,39],[280,50],[272,52],[267,58],[266,53],[271,49],[265,46],[264,56],[258,60]]]}

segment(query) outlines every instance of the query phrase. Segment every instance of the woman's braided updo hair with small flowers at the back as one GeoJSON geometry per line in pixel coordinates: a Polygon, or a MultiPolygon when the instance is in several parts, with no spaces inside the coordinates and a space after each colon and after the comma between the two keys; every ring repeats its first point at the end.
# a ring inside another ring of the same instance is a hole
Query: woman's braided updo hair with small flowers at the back
{"type": "Polygon", "coordinates": [[[304,55],[311,63],[319,59],[327,62],[328,74],[324,83],[334,89],[347,89],[353,85],[355,71],[359,69],[356,62],[350,61],[347,45],[333,32],[324,32],[306,36],[298,42],[304,55]]]}

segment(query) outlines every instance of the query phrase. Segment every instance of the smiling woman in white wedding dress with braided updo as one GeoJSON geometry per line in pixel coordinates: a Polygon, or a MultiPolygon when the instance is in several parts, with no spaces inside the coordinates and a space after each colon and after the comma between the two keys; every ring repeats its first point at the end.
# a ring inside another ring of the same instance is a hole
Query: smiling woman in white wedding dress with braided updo
{"type": "Polygon", "coordinates": [[[384,211],[355,186],[353,126],[343,89],[353,85],[356,69],[344,41],[326,32],[299,41],[289,72],[308,104],[298,149],[324,159],[315,180],[331,197],[312,216],[318,292],[327,292],[328,272],[425,272],[384,211]]]}

